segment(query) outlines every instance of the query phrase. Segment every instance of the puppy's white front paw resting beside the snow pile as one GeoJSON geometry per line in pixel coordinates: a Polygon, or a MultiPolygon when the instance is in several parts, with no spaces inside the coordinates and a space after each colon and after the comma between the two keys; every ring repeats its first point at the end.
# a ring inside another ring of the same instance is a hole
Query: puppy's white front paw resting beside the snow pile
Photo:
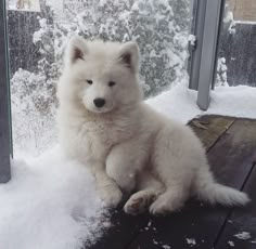
{"type": "Polygon", "coordinates": [[[108,185],[100,189],[100,197],[107,208],[116,208],[123,199],[123,193],[117,186],[108,185]]]}

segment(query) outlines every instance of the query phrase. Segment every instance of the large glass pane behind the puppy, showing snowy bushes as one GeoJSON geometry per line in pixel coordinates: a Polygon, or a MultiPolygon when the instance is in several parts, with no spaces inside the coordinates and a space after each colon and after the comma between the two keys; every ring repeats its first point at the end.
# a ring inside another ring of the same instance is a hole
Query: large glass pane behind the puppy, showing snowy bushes
{"type": "Polygon", "coordinates": [[[16,149],[37,154],[56,140],[56,82],[75,34],[137,41],[145,97],[187,74],[190,0],[10,0],[8,17],[16,149]]]}

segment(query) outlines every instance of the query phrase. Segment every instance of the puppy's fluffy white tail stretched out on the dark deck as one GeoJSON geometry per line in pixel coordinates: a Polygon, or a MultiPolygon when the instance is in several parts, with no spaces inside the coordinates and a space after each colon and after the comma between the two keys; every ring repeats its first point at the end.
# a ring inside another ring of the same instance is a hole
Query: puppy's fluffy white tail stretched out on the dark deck
{"type": "Polygon", "coordinates": [[[212,205],[244,206],[249,201],[245,193],[216,183],[207,167],[200,169],[195,182],[195,195],[212,205]]]}

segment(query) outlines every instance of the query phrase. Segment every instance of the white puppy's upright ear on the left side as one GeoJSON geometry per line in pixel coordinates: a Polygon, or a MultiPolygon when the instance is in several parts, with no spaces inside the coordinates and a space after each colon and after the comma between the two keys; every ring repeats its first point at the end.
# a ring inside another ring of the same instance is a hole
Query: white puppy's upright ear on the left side
{"type": "Polygon", "coordinates": [[[85,60],[87,53],[86,40],[79,36],[74,36],[66,48],[65,64],[74,64],[78,60],[85,60]]]}

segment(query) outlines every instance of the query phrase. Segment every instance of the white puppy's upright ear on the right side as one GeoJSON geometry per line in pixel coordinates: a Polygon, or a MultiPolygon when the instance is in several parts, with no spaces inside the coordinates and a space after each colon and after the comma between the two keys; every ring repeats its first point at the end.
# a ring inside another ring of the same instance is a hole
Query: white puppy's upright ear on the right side
{"type": "Polygon", "coordinates": [[[129,41],[121,45],[118,60],[131,70],[139,71],[140,51],[136,42],[129,41]]]}

